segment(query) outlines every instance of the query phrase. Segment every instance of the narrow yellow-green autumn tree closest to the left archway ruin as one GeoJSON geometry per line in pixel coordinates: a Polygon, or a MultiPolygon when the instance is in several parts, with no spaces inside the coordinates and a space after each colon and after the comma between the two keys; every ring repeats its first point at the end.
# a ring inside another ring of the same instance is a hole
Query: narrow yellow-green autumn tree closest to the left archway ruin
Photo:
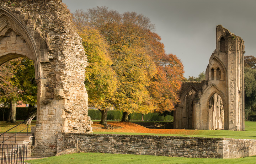
{"type": "Polygon", "coordinates": [[[107,111],[113,107],[117,86],[116,73],[111,68],[108,45],[94,28],[84,27],[80,36],[89,62],[89,66],[85,68],[88,102],[101,111],[100,124],[106,125],[107,111]]]}

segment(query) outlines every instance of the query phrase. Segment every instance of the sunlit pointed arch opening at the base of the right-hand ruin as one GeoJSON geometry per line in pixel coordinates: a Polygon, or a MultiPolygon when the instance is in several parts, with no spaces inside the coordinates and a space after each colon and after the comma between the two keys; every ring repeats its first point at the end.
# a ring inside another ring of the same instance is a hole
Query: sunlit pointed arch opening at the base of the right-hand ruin
{"type": "Polygon", "coordinates": [[[213,93],[207,103],[208,108],[208,127],[209,130],[223,130],[224,129],[224,105],[223,99],[215,92],[213,93]]]}

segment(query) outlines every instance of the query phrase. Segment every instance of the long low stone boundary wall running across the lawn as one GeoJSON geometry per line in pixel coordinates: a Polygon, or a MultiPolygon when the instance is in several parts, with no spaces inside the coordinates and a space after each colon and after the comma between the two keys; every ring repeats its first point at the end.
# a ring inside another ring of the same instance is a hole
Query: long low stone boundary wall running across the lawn
{"type": "Polygon", "coordinates": [[[256,155],[256,140],[174,136],[59,133],[57,154],[82,152],[193,158],[241,158],[256,155]]]}

